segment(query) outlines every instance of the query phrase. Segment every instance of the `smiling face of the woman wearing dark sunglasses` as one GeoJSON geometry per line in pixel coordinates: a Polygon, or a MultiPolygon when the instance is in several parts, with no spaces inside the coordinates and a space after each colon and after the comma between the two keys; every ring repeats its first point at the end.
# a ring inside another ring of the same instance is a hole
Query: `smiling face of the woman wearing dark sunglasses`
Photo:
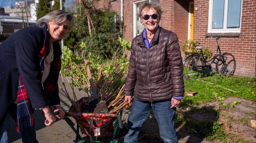
{"type": "MultiPolygon", "coordinates": [[[[157,12],[156,12],[156,10],[154,8],[145,7],[142,10],[141,15],[143,17],[146,14],[147,15],[153,15],[153,14],[157,14],[157,12]]],[[[144,20],[143,18],[141,18],[141,23],[145,26],[147,31],[150,31],[150,32],[154,32],[154,31],[157,30],[159,22],[160,22],[160,17],[159,16],[156,19],[152,19],[152,17],[150,17],[149,19],[144,20]]]]}

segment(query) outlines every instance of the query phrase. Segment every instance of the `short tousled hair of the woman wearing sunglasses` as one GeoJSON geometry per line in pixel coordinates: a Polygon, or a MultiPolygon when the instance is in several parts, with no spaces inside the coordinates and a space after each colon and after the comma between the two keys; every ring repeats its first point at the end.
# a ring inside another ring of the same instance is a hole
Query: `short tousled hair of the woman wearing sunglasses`
{"type": "Polygon", "coordinates": [[[139,7],[139,11],[137,13],[138,17],[142,17],[142,11],[144,8],[154,8],[154,10],[156,11],[156,14],[158,14],[159,17],[161,17],[163,11],[161,9],[161,7],[158,4],[155,3],[149,3],[149,2],[143,2],[141,3],[140,7],[139,7]]]}

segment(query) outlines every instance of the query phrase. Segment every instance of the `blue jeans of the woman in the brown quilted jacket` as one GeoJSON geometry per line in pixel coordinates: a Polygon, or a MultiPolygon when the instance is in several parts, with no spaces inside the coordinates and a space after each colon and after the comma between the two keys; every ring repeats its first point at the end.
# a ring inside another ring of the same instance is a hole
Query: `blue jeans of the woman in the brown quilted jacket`
{"type": "Polygon", "coordinates": [[[129,131],[124,137],[124,143],[139,143],[138,135],[142,124],[146,121],[149,113],[153,110],[159,125],[160,137],[165,143],[178,143],[174,128],[174,115],[176,108],[171,107],[171,99],[151,102],[140,101],[134,98],[131,113],[128,117],[129,131]]]}

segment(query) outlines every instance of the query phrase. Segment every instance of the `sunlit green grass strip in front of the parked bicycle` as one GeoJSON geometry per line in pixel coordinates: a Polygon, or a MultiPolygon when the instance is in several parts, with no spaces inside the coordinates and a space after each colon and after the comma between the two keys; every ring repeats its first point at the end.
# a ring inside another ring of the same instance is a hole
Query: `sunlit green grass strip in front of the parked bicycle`
{"type": "Polygon", "coordinates": [[[185,95],[180,103],[181,107],[216,100],[214,95],[224,98],[235,96],[256,101],[255,77],[221,77],[215,74],[197,80],[184,79],[184,82],[185,91],[196,91],[198,94],[192,98],[185,95]]]}

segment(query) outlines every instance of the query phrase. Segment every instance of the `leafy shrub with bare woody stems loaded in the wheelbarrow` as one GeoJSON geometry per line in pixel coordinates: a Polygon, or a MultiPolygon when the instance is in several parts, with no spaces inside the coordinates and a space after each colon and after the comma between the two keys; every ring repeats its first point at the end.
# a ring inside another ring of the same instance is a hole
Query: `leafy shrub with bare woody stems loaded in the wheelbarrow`
{"type": "MultiPolygon", "coordinates": [[[[86,48],[83,42],[80,46],[86,48]]],[[[88,78],[87,60],[78,57],[69,49],[64,47],[64,59],[62,61],[62,74],[71,77],[72,86],[78,87],[87,93],[92,100],[92,91],[88,78]]],[[[128,71],[128,61],[124,54],[120,58],[111,61],[104,61],[102,57],[89,53],[90,72],[97,93],[97,99],[106,101],[109,113],[118,113],[124,107],[130,107],[131,104],[123,102],[122,95],[125,76],[128,71]]]]}

